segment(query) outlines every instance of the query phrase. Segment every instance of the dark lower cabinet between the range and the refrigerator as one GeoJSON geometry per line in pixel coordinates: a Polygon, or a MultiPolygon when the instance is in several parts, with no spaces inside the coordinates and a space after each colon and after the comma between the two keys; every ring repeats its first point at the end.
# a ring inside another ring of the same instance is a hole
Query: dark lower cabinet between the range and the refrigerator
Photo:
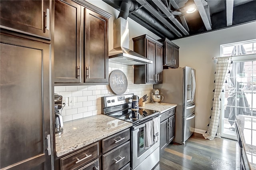
{"type": "Polygon", "coordinates": [[[174,139],[175,108],[162,113],[160,118],[160,152],[174,139]]]}

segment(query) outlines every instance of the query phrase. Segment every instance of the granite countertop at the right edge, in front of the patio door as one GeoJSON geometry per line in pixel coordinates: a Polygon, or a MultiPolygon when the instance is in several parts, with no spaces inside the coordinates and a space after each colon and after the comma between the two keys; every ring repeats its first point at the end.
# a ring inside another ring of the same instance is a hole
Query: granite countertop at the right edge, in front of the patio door
{"type": "Polygon", "coordinates": [[[250,169],[256,170],[256,117],[238,115],[236,122],[250,169]]]}

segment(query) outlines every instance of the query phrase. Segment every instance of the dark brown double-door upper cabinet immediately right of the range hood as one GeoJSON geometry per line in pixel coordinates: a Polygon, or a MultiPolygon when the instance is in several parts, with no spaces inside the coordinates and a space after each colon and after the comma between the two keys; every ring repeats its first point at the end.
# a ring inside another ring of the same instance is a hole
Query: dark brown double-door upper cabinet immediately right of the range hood
{"type": "Polygon", "coordinates": [[[134,84],[162,83],[163,44],[146,34],[132,40],[134,51],[153,61],[145,65],[134,65],[134,84]]]}

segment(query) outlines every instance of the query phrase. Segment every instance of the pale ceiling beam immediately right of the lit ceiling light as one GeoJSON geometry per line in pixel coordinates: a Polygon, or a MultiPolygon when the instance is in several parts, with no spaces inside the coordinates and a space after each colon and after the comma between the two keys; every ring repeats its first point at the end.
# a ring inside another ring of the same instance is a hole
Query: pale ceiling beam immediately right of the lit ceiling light
{"type": "Polygon", "coordinates": [[[207,31],[212,30],[211,20],[210,20],[210,18],[208,18],[208,16],[210,16],[209,8],[206,7],[206,9],[205,9],[201,0],[194,0],[194,2],[196,4],[196,8],[198,9],[198,12],[204,22],[204,26],[205,26],[206,30],[207,31]],[[206,10],[209,15],[206,14],[206,10]]]}

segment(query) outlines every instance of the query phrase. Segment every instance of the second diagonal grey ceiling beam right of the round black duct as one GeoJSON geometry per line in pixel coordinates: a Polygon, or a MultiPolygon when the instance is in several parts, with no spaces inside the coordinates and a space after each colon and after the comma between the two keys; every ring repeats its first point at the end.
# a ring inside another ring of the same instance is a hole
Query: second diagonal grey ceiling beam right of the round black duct
{"type": "Polygon", "coordinates": [[[175,24],[177,28],[185,35],[188,36],[188,31],[180,24],[180,22],[174,17],[173,14],[166,8],[166,6],[161,2],[161,0],[152,0],[152,2],[175,24]]]}

